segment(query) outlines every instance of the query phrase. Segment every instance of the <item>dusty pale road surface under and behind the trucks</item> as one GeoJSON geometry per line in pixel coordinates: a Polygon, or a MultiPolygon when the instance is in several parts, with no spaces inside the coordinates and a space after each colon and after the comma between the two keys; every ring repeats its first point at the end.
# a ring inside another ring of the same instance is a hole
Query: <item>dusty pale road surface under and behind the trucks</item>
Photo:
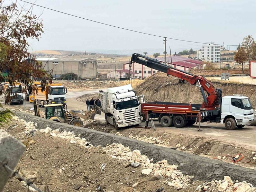
{"type": "MultiPolygon", "coordinates": [[[[67,108],[68,110],[84,110],[86,111],[86,104],[80,101],[77,101],[76,98],[84,94],[98,93],[99,90],[104,89],[88,89],[88,90],[79,90],[79,91],[69,91],[66,94],[67,99],[67,108]]],[[[26,107],[33,107],[31,103],[26,102],[26,107]]],[[[42,110],[42,109],[41,109],[42,110]]],[[[105,121],[104,113],[101,115],[95,116],[96,120],[105,121]]],[[[209,137],[217,140],[223,140],[228,143],[238,143],[244,147],[255,147],[256,148],[256,126],[245,126],[244,128],[236,128],[235,130],[227,130],[222,124],[201,124],[201,132],[198,132],[198,124],[193,126],[176,128],[176,127],[162,127],[158,121],[154,121],[156,129],[162,129],[166,132],[173,134],[189,134],[195,136],[209,137]]],[[[145,122],[141,123],[141,126],[145,126],[145,122]]],[[[151,126],[151,124],[149,124],[151,126]]]]}

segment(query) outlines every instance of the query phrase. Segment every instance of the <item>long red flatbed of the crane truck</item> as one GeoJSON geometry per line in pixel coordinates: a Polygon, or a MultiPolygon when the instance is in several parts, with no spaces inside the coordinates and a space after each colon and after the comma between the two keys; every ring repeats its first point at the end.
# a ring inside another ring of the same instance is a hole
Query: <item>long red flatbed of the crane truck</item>
{"type": "Polygon", "coordinates": [[[199,110],[201,104],[189,104],[189,103],[174,103],[174,102],[162,102],[153,101],[141,104],[141,111],[155,111],[155,112],[186,112],[199,110]]]}

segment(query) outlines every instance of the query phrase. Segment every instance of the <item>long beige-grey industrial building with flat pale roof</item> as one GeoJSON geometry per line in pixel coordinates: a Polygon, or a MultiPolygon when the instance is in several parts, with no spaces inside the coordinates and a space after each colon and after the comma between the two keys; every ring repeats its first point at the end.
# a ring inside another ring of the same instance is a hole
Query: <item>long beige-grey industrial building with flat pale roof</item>
{"type": "Polygon", "coordinates": [[[97,61],[91,58],[36,58],[42,62],[46,71],[53,72],[54,75],[66,73],[78,74],[81,78],[96,77],[97,61]]]}

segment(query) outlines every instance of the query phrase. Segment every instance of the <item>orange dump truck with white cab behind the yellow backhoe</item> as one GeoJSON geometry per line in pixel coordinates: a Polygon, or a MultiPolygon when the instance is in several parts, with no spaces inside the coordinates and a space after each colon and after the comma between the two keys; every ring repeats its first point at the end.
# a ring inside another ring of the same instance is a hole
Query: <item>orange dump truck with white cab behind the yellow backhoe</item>
{"type": "Polygon", "coordinates": [[[67,88],[62,84],[48,84],[43,92],[39,82],[35,82],[32,85],[38,90],[37,93],[34,91],[31,95],[35,96],[35,100],[38,101],[39,107],[43,107],[47,104],[65,105],[67,103],[67,88]]]}

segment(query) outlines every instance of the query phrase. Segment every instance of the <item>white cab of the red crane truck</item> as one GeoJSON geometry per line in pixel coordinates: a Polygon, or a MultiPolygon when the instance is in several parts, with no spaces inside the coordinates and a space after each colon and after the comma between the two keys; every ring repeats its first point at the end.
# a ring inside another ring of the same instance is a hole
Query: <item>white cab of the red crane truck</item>
{"type": "Polygon", "coordinates": [[[226,129],[241,128],[254,121],[253,107],[248,97],[234,94],[221,99],[221,124],[226,129]]]}

